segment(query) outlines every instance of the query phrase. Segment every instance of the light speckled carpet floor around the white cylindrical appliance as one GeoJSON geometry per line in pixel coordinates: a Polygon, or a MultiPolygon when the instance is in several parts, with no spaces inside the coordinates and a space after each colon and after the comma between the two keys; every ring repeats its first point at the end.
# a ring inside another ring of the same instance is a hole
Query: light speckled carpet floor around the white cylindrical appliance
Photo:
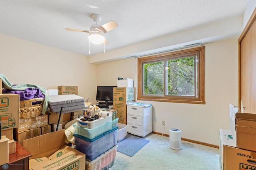
{"type": "MultiPolygon", "coordinates": [[[[170,148],[169,137],[158,134],[134,156],[116,152],[111,170],[219,170],[219,149],[192,142],[181,142],[181,150],[170,148]]],[[[117,143],[118,144],[118,143],[117,143]]]]}

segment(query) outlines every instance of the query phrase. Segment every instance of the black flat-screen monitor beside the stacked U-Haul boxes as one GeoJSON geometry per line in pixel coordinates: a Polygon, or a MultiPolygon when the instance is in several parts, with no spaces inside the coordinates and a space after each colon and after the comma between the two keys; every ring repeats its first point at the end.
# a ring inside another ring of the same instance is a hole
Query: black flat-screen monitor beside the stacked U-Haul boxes
{"type": "Polygon", "coordinates": [[[97,101],[113,101],[113,88],[117,86],[97,86],[97,101]]]}

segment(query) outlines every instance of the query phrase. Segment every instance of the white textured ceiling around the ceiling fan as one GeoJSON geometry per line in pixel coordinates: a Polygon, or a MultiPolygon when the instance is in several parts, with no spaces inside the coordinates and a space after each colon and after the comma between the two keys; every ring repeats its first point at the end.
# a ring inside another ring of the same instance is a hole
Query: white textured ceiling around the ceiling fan
{"type": "Polygon", "coordinates": [[[103,53],[90,45],[88,33],[99,14],[103,25],[118,27],[105,34],[106,51],[241,16],[248,0],[0,0],[0,34],[82,55],[103,53]]]}

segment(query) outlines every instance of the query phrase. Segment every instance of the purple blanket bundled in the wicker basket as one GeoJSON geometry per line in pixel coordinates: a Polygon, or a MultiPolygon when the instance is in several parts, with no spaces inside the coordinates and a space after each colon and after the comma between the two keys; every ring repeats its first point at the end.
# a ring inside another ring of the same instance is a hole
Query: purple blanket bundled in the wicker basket
{"type": "Polygon", "coordinates": [[[2,93],[14,93],[20,95],[20,101],[34,99],[34,98],[45,98],[39,88],[29,87],[25,90],[9,90],[3,89],[2,93]]]}

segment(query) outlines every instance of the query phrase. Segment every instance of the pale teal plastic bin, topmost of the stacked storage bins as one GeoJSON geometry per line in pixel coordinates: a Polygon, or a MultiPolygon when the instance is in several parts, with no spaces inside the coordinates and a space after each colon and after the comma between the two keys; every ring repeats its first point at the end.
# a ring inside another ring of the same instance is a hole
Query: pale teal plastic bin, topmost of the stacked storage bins
{"type": "Polygon", "coordinates": [[[101,134],[104,134],[105,132],[108,132],[109,130],[116,128],[118,126],[117,122],[118,122],[118,119],[115,119],[113,121],[104,123],[95,128],[85,128],[85,127],[78,126],[74,123],[73,124],[73,127],[75,129],[74,134],[84,136],[88,139],[93,139],[93,138],[96,138],[97,136],[100,136],[101,134]]]}

